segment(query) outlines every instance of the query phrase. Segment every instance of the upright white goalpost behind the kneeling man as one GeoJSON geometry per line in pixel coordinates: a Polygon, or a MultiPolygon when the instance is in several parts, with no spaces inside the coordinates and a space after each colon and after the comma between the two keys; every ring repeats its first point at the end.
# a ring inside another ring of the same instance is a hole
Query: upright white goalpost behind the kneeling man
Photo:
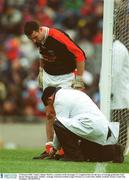
{"type": "Polygon", "coordinates": [[[110,120],[114,0],[104,0],[100,109],[110,120]]]}

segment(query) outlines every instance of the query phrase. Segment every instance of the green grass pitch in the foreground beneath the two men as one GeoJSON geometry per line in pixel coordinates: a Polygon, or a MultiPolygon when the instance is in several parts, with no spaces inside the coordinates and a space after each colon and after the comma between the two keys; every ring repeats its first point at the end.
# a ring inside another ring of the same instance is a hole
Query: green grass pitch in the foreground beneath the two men
{"type": "MultiPolygon", "coordinates": [[[[55,160],[32,160],[41,150],[17,149],[0,150],[0,173],[93,173],[97,163],[63,162],[55,160]]],[[[99,163],[99,173],[103,173],[105,165],[107,173],[129,173],[129,156],[122,164],[99,163]]]]}

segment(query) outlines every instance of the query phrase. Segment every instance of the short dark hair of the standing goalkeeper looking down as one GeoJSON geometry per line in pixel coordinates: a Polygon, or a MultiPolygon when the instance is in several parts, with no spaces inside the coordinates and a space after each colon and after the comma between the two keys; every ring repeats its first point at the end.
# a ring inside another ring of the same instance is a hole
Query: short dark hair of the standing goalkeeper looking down
{"type": "Polygon", "coordinates": [[[28,21],[24,26],[24,34],[26,36],[30,36],[33,31],[38,31],[40,28],[40,24],[37,21],[28,21]]]}

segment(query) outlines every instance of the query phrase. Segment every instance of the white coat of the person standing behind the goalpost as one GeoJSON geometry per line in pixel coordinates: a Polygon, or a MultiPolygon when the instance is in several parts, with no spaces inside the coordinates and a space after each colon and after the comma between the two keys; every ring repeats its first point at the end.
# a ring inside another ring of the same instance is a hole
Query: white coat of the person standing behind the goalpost
{"type": "Polygon", "coordinates": [[[129,109],[129,52],[119,40],[112,57],[112,109],[129,109]]]}

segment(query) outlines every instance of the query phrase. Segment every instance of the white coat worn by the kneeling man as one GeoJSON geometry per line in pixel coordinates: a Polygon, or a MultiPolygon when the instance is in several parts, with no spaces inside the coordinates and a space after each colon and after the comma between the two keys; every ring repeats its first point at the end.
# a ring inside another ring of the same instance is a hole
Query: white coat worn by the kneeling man
{"type": "MultiPolygon", "coordinates": [[[[60,89],[54,100],[57,119],[71,132],[98,144],[118,141],[119,123],[109,122],[90,97],[78,90],[60,89]],[[111,137],[107,139],[108,128],[111,137]]],[[[56,140],[54,140],[56,147],[56,140]]]]}

